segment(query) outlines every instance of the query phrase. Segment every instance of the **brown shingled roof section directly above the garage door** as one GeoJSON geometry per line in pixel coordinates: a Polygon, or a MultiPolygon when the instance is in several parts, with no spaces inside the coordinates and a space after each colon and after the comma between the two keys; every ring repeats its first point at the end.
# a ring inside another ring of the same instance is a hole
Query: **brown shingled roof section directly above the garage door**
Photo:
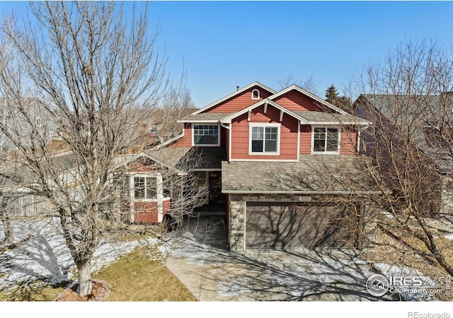
{"type": "Polygon", "coordinates": [[[360,194],[374,191],[355,155],[301,155],[299,162],[222,162],[222,192],[360,194]]]}

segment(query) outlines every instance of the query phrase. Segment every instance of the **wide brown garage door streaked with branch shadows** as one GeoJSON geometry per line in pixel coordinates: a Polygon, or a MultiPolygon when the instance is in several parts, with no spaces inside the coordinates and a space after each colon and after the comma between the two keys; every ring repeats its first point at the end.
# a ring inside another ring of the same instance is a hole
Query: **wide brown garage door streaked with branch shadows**
{"type": "Polygon", "coordinates": [[[355,247],[345,208],[294,202],[247,202],[246,248],[355,247]]]}

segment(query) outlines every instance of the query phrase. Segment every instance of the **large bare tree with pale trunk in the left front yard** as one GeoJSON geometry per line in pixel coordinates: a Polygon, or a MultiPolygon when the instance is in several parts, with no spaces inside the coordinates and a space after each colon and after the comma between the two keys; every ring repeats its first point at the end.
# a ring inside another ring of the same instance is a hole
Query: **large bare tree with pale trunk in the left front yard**
{"type": "Polygon", "coordinates": [[[55,208],[79,293],[88,295],[91,257],[112,228],[105,220],[124,213],[113,182],[117,155],[164,95],[166,61],[156,51],[157,33],[149,32],[147,8],[126,16],[113,2],[29,6],[36,23],[5,19],[1,28],[11,49],[0,52],[0,87],[13,119],[0,132],[14,147],[3,171],[23,171],[8,178],[55,208]],[[70,163],[52,148],[51,126],[70,163]]]}

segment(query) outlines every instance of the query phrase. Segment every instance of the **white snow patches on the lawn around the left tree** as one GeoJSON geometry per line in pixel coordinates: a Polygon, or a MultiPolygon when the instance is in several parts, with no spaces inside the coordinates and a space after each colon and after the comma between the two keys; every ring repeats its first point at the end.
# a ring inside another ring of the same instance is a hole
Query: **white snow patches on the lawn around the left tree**
{"type": "MultiPolygon", "coordinates": [[[[8,290],[36,280],[51,285],[74,280],[75,264],[61,234],[58,218],[15,220],[11,226],[16,241],[27,237],[29,240],[0,254],[0,289],[8,290]]],[[[0,231],[1,240],[4,240],[3,231],[0,231]]],[[[143,242],[104,240],[93,255],[92,272],[132,252],[140,243],[143,242]]],[[[158,243],[157,239],[148,240],[150,245],[158,243]]],[[[159,247],[159,251],[166,255],[164,247],[159,247]]]]}

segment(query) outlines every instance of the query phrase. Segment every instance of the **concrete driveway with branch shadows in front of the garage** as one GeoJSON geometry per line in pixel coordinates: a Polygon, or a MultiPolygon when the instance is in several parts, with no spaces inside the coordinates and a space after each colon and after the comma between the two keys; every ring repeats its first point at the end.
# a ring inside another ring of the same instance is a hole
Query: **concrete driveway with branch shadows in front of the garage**
{"type": "Polygon", "coordinates": [[[166,266],[200,301],[389,300],[365,288],[367,262],[350,250],[229,252],[218,216],[190,219],[166,266]]]}

